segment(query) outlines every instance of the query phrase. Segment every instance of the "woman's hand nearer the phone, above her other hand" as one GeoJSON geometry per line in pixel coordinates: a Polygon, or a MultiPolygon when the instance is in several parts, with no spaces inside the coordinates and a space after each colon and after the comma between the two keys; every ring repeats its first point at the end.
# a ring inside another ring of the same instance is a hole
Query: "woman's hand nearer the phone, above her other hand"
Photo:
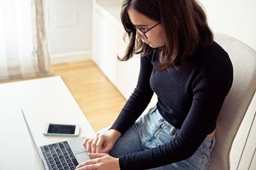
{"type": "Polygon", "coordinates": [[[94,138],[85,138],[83,146],[88,153],[108,153],[120,136],[120,132],[110,129],[107,134],[96,134],[94,138]]]}

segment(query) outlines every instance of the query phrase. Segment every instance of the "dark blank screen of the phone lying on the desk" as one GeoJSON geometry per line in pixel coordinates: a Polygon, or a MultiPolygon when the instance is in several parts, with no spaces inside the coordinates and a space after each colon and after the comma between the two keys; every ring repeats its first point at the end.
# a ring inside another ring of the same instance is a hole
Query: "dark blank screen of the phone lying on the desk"
{"type": "Polygon", "coordinates": [[[50,124],[47,133],[50,134],[74,134],[76,125],[54,125],[50,124]]]}

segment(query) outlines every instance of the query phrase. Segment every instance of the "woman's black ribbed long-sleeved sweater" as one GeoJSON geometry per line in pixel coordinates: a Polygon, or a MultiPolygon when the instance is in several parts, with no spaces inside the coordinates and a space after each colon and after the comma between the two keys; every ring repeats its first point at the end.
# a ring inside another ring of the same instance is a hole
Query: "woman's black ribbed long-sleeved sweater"
{"type": "Polygon", "coordinates": [[[214,130],[232,85],[232,63],[215,42],[198,50],[179,69],[158,71],[158,65],[157,51],[141,57],[136,89],[111,129],[124,134],[147,108],[155,92],[159,113],[180,131],[164,145],[120,157],[121,169],[149,169],[191,157],[214,130]]]}

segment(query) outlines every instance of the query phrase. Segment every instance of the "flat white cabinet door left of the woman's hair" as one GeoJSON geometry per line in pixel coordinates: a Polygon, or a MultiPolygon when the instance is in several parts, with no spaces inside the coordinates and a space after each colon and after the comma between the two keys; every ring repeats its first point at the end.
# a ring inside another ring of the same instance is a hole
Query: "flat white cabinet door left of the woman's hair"
{"type": "Polygon", "coordinates": [[[98,10],[93,15],[92,59],[108,79],[115,83],[117,34],[115,25],[98,10]]]}

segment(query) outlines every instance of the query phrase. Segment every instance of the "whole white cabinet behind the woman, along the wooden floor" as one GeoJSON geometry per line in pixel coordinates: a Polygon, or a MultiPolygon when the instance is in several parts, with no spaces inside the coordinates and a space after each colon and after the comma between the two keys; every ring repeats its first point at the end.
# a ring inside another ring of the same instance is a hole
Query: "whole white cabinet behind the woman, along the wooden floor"
{"type": "Polygon", "coordinates": [[[121,62],[124,57],[124,28],[120,22],[119,1],[94,1],[92,59],[120,93],[128,99],[136,87],[140,57],[121,62]]]}

